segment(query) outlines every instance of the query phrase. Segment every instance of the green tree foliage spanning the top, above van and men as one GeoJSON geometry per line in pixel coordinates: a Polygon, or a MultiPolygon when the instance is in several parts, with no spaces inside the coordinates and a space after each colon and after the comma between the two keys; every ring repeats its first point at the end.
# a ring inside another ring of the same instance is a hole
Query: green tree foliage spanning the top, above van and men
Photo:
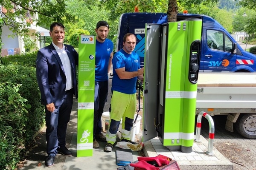
{"type": "MultiPolygon", "coordinates": [[[[231,20],[227,21],[225,18],[232,14],[227,9],[235,8],[237,3],[251,9],[255,9],[256,6],[254,0],[237,0],[235,2],[233,0],[0,0],[2,7],[0,10],[0,34],[2,26],[6,25],[9,26],[13,34],[25,37],[23,40],[30,40],[28,38],[30,35],[27,34],[31,23],[26,22],[26,19],[30,19],[29,12],[31,15],[38,13],[39,19],[35,20],[38,26],[44,28],[49,28],[49,24],[53,21],[64,23],[67,34],[71,34],[73,30],[82,29],[95,35],[96,23],[99,20],[106,20],[110,25],[108,38],[113,39],[117,32],[120,15],[134,12],[135,7],[140,12],[167,12],[169,15],[172,14],[172,21],[176,20],[177,13],[186,9],[189,13],[208,15],[218,20],[230,31],[232,29],[229,24],[231,20]],[[220,11],[219,8],[223,8],[224,11],[220,11]]],[[[248,20],[246,20],[249,21],[249,17],[247,18],[248,20]]],[[[250,17],[251,26],[254,21],[256,20],[250,17]]],[[[248,25],[239,24],[236,21],[234,23],[236,23],[233,26],[234,30],[241,30],[239,27],[248,25]]],[[[243,30],[253,32],[251,28],[243,28],[243,30]]],[[[39,34],[35,33],[35,36],[39,36],[39,34]]],[[[27,41],[27,51],[32,49],[31,44],[31,40],[27,41]]]]}

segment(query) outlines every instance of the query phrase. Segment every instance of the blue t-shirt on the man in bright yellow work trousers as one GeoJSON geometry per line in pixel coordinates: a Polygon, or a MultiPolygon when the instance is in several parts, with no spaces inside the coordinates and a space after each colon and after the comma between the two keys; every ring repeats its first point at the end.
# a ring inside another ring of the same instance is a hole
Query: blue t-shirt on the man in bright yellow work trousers
{"type": "Polygon", "coordinates": [[[140,69],[140,57],[134,51],[131,54],[126,53],[123,49],[118,51],[113,59],[113,79],[112,79],[112,91],[118,91],[125,94],[136,93],[136,81],[137,77],[131,79],[120,79],[116,74],[115,69],[124,68],[125,71],[138,71],[140,69]]]}

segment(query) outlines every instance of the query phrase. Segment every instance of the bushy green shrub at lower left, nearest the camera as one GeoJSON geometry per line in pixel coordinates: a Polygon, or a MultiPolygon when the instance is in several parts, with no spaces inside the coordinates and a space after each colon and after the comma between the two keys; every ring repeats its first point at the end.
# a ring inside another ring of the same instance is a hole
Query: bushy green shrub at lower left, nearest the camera
{"type": "Polygon", "coordinates": [[[24,149],[28,111],[20,96],[20,85],[0,84],[0,169],[14,169],[24,149]]]}

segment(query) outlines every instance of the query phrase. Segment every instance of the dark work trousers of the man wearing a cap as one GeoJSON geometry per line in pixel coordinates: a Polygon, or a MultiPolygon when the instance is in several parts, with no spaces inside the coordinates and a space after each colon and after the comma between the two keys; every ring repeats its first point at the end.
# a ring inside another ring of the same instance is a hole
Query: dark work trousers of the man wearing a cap
{"type": "Polygon", "coordinates": [[[94,119],[93,119],[93,138],[95,134],[102,131],[101,116],[108,97],[108,80],[104,82],[95,81],[94,89],[94,119]]]}

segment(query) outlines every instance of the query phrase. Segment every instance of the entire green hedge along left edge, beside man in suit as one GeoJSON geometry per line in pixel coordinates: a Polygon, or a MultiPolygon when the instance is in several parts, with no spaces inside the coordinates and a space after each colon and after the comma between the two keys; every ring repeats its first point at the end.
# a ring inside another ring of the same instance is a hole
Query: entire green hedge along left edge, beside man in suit
{"type": "Polygon", "coordinates": [[[1,58],[0,169],[14,169],[45,120],[35,72],[36,52],[1,58]]]}

